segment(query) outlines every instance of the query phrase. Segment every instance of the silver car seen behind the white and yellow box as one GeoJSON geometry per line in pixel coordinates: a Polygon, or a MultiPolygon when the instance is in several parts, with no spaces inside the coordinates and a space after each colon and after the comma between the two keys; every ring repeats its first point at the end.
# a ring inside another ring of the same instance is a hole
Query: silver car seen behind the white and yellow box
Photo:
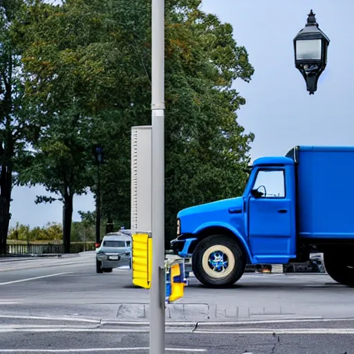
{"type": "Polygon", "coordinates": [[[96,248],[96,272],[111,272],[122,265],[131,268],[131,236],[121,232],[104,235],[96,248]]]}

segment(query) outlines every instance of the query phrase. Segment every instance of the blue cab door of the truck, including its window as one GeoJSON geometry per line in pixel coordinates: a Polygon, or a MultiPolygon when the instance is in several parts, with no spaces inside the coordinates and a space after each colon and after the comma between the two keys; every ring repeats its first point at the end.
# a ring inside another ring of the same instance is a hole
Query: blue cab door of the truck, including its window
{"type": "Polygon", "coordinates": [[[248,200],[248,236],[257,263],[288,263],[295,257],[294,168],[259,167],[256,172],[248,200]]]}

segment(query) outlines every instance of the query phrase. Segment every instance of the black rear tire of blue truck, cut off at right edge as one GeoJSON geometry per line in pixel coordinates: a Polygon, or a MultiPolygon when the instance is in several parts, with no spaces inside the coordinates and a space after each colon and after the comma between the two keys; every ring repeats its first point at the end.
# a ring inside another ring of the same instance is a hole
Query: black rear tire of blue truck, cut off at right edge
{"type": "Polygon", "coordinates": [[[354,261],[346,252],[325,252],[324,268],[337,283],[354,286],[354,261]]]}

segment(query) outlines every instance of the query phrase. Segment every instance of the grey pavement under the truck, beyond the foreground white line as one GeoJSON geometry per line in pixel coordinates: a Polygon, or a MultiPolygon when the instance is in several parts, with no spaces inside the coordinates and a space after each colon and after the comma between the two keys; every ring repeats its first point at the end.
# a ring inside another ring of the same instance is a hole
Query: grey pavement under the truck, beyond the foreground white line
{"type": "MultiPolygon", "coordinates": [[[[235,321],[294,317],[354,318],[354,289],[326,274],[245,274],[217,290],[196,279],[167,308],[170,321],[235,321]]],[[[0,263],[0,315],[66,315],[149,320],[149,292],[130,270],[96,274],[95,255],[0,263]]]]}

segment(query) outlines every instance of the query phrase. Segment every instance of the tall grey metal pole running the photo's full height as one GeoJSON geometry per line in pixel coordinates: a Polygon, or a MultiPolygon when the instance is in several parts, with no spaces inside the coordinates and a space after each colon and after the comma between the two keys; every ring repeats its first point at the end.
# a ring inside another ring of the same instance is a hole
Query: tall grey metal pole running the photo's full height
{"type": "Polygon", "coordinates": [[[150,354],[165,353],[165,0],[152,0],[150,354]]]}

